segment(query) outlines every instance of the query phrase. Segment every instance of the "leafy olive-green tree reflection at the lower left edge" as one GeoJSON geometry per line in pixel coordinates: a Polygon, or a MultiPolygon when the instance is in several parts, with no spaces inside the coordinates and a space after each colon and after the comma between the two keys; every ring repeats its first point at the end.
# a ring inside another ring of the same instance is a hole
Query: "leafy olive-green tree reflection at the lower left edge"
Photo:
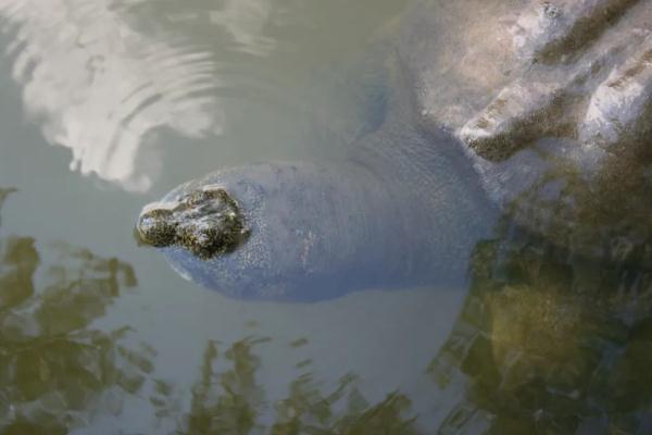
{"type": "Polygon", "coordinates": [[[43,250],[32,237],[0,239],[1,434],[66,434],[117,414],[152,371],[151,349],[122,344],[128,328],[92,327],[136,284],[131,268],[65,244],[43,250]]]}

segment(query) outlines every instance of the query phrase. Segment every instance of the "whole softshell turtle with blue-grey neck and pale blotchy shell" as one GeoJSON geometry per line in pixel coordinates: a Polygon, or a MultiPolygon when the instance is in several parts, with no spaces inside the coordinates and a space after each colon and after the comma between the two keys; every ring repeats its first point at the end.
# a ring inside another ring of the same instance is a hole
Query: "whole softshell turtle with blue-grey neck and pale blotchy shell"
{"type": "Polygon", "coordinates": [[[204,287],[291,301],[463,285],[501,215],[570,254],[643,249],[651,17],[645,0],[417,2],[381,122],[344,159],[221,169],[136,233],[204,287]]]}

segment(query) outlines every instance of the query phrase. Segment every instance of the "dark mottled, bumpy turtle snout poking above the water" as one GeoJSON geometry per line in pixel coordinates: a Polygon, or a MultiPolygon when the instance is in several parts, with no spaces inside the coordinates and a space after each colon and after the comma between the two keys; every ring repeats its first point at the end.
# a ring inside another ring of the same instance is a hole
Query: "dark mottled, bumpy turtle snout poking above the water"
{"type": "Polygon", "coordinates": [[[146,206],[136,233],[145,245],[179,246],[208,260],[235,251],[251,232],[238,202],[224,188],[204,186],[173,201],[146,206]]]}

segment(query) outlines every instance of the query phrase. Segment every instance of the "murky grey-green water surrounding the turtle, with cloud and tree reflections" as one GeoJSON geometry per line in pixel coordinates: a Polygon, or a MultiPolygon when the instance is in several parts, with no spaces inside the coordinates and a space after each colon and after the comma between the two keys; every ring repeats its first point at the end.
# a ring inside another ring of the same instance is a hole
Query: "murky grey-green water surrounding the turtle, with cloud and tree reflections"
{"type": "Polygon", "coordinates": [[[380,110],[364,65],[406,7],[0,0],[0,433],[645,433],[630,264],[497,227],[467,286],[273,303],[135,241],[181,182],[341,153],[380,110]]]}

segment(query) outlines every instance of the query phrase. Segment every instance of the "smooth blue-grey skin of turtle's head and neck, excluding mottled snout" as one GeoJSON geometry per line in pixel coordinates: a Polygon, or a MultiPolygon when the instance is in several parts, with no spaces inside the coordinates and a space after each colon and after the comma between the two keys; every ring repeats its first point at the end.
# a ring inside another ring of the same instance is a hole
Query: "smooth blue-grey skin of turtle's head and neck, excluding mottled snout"
{"type": "MultiPolygon", "coordinates": [[[[496,210],[450,137],[397,126],[389,121],[351,146],[346,161],[217,171],[142,215],[189,192],[228,192],[249,232],[237,248],[209,259],[178,244],[162,250],[180,275],[240,299],[316,301],[365,288],[461,285],[496,210]]],[[[150,226],[139,225],[142,238],[150,226]]]]}

